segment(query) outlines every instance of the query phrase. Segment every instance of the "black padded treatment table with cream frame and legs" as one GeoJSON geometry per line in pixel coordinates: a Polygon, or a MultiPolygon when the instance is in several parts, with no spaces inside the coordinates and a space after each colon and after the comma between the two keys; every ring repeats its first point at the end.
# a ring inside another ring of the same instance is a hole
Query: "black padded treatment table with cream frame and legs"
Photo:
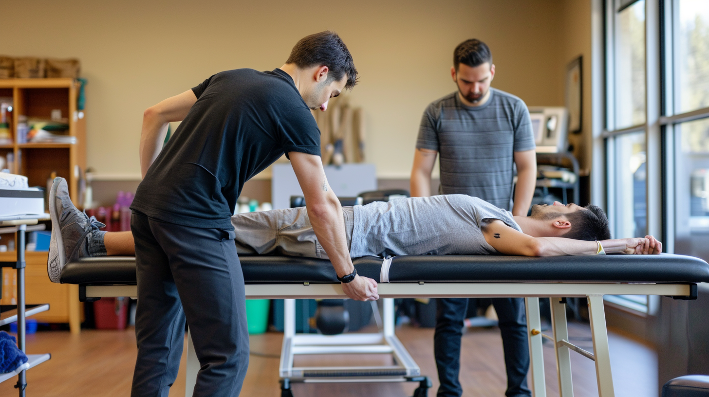
{"type": "MultiPolygon", "coordinates": [[[[330,262],[279,256],[242,256],[246,297],[347,298],[330,262]]],[[[495,255],[420,255],[390,259],[353,259],[357,273],[379,281],[381,298],[523,297],[531,357],[532,392],[545,397],[542,337],[554,342],[560,395],[573,396],[570,352],[596,363],[598,394],[614,396],[610,372],[604,295],[660,295],[696,299],[698,282],[709,281],[709,264],[683,255],[596,255],[588,257],[511,257],[495,255]],[[569,297],[588,298],[593,353],[569,342],[564,303],[569,297]],[[541,332],[539,298],[549,298],[552,335],[541,332]]],[[[137,295],[135,258],[84,258],[67,264],[62,283],[79,284],[79,299],[137,295]]],[[[286,301],[281,396],[292,396],[291,381],[420,381],[414,396],[425,396],[430,384],[394,335],[393,300],[384,303],[384,330],[378,334],[295,335],[293,301],[286,301]],[[289,318],[289,313],[291,318],[289,318]],[[365,335],[359,337],[357,335],[365,335]],[[320,338],[314,340],[312,338],[320,338]],[[325,338],[325,340],[323,340],[325,338]],[[397,366],[344,368],[293,367],[294,354],[390,352],[397,366]],[[418,372],[417,372],[418,371],[418,372]]],[[[190,396],[199,362],[189,341],[187,387],[190,396]]]]}

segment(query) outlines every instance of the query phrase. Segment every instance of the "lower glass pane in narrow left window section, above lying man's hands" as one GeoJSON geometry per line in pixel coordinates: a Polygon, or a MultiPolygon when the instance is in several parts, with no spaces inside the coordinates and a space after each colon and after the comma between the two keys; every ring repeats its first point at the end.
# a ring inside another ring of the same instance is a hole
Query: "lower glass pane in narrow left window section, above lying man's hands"
{"type": "Polygon", "coordinates": [[[615,138],[615,233],[613,238],[645,237],[645,134],[615,138]]]}

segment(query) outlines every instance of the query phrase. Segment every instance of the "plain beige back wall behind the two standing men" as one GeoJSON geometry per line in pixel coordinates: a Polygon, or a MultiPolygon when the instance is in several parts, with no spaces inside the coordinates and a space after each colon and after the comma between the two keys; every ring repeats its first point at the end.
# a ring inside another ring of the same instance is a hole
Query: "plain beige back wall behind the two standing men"
{"type": "Polygon", "coordinates": [[[352,101],[367,115],[367,157],[379,177],[408,177],[423,109],[455,89],[455,45],[486,41],[493,86],[529,105],[562,105],[560,69],[579,51],[559,33],[581,27],[560,11],[586,12],[575,5],[584,1],[9,1],[3,29],[13,34],[1,52],[78,57],[89,80],[89,166],[138,174],[147,106],[224,69],[280,67],[299,38],[337,30],[361,73],[352,101]]]}

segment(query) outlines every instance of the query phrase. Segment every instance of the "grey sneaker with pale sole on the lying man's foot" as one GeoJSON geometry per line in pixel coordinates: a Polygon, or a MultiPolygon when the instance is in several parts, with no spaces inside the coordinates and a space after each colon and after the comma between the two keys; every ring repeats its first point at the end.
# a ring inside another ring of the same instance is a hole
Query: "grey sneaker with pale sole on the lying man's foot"
{"type": "Polygon", "coordinates": [[[79,257],[88,257],[91,233],[105,225],[79,211],[69,198],[64,178],[54,179],[49,193],[49,213],[52,217],[52,237],[49,243],[47,272],[50,280],[60,282],[65,265],[79,257]]]}

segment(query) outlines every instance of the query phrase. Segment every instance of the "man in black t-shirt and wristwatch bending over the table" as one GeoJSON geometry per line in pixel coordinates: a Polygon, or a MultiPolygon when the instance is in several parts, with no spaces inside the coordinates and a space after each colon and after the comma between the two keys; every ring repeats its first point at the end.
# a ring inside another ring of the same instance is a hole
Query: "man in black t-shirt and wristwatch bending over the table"
{"type": "Polygon", "coordinates": [[[182,355],[185,321],[201,369],[194,396],[238,396],[249,359],[244,279],[230,223],[245,181],[284,153],[301,184],[313,230],[342,289],[379,298],[376,281],[357,276],[340,202],[320,160],[311,109],[357,82],[336,33],[298,41],[272,72],[221,72],[143,114],[133,201],[138,359],[132,396],[167,396],[182,355]],[[160,150],[161,132],[182,121],[160,150]]]}

